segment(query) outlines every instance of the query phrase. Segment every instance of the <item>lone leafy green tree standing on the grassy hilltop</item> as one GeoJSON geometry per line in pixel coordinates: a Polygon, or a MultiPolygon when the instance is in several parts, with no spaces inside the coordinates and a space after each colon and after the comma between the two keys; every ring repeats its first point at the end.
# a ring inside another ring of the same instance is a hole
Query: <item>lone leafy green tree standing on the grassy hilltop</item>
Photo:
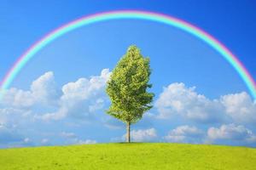
{"type": "Polygon", "coordinates": [[[150,74],[149,58],[144,58],[133,45],[119,60],[108,81],[106,91],[111,105],[107,113],[126,123],[127,142],[131,142],[131,124],[152,108],[154,94],[147,92],[152,87],[148,83],[150,74]]]}

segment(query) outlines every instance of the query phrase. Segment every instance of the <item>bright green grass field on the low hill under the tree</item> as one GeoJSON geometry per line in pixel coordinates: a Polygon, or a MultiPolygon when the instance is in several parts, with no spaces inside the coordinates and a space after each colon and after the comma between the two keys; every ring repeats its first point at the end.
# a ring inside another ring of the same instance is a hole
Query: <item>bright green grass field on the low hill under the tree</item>
{"type": "Polygon", "coordinates": [[[0,169],[256,169],[256,149],[205,144],[85,144],[0,150],[0,169]]]}

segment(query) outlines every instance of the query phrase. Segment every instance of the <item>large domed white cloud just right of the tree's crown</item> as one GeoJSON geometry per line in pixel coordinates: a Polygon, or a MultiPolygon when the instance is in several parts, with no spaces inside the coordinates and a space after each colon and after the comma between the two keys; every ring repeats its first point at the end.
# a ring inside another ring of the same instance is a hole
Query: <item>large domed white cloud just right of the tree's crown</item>
{"type": "Polygon", "coordinates": [[[172,83],[160,94],[155,106],[159,118],[181,115],[195,122],[217,122],[223,118],[222,105],[218,100],[197,94],[195,87],[186,88],[183,83],[172,83]]]}

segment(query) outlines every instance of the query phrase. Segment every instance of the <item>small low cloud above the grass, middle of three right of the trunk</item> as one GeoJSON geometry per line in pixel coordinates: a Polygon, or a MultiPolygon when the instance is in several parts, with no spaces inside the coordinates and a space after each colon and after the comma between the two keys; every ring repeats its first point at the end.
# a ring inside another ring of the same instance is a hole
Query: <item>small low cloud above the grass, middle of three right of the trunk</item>
{"type": "Polygon", "coordinates": [[[167,142],[174,143],[199,143],[203,139],[204,132],[197,127],[189,127],[188,125],[176,127],[172,129],[164,139],[167,142]]]}

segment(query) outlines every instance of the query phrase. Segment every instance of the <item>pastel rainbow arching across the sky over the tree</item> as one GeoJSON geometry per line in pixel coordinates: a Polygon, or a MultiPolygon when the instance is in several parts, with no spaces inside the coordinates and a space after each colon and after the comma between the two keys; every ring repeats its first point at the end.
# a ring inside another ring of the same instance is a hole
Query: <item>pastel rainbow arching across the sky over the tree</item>
{"type": "Polygon", "coordinates": [[[189,24],[186,21],[174,18],[166,14],[158,14],[148,11],[140,10],[119,10],[119,11],[110,11],[99,14],[91,14],[84,16],[78,20],[73,20],[72,22],[67,23],[64,26],[61,26],[54,31],[49,32],[46,36],[41,38],[38,42],[35,42],[30,48],[26,50],[24,54],[20,56],[15,64],[9,69],[2,82],[0,82],[1,94],[10,87],[10,84],[14,81],[15,77],[26,65],[26,63],[32,59],[32,57],[38,53],[42,48],[48,45],[50,42],[53,42],[56,38],[61,37],[69,31],[73,31],[81,26],[88,26],[97,22],[104,20],[119,20],[119,19],[137,19],[137,20],[150,20],[166,24],[168,26],[174,26],[178,29],[186,31],[193,36],[201,39],[201,41],[206,42],[210,47],[214,48],[219,54],[221,54],[224,59],[226,59],[230,65],[236,70],[243,82],[245,82],[249,92],[252,94],[253,98],[256,99],[256,83],[253,80],[253,77],[247,71],[241,61],[230,52],[228,48],[224,46],[221,42],[206,31],[201,30],[200,28],[189,24]]]}

